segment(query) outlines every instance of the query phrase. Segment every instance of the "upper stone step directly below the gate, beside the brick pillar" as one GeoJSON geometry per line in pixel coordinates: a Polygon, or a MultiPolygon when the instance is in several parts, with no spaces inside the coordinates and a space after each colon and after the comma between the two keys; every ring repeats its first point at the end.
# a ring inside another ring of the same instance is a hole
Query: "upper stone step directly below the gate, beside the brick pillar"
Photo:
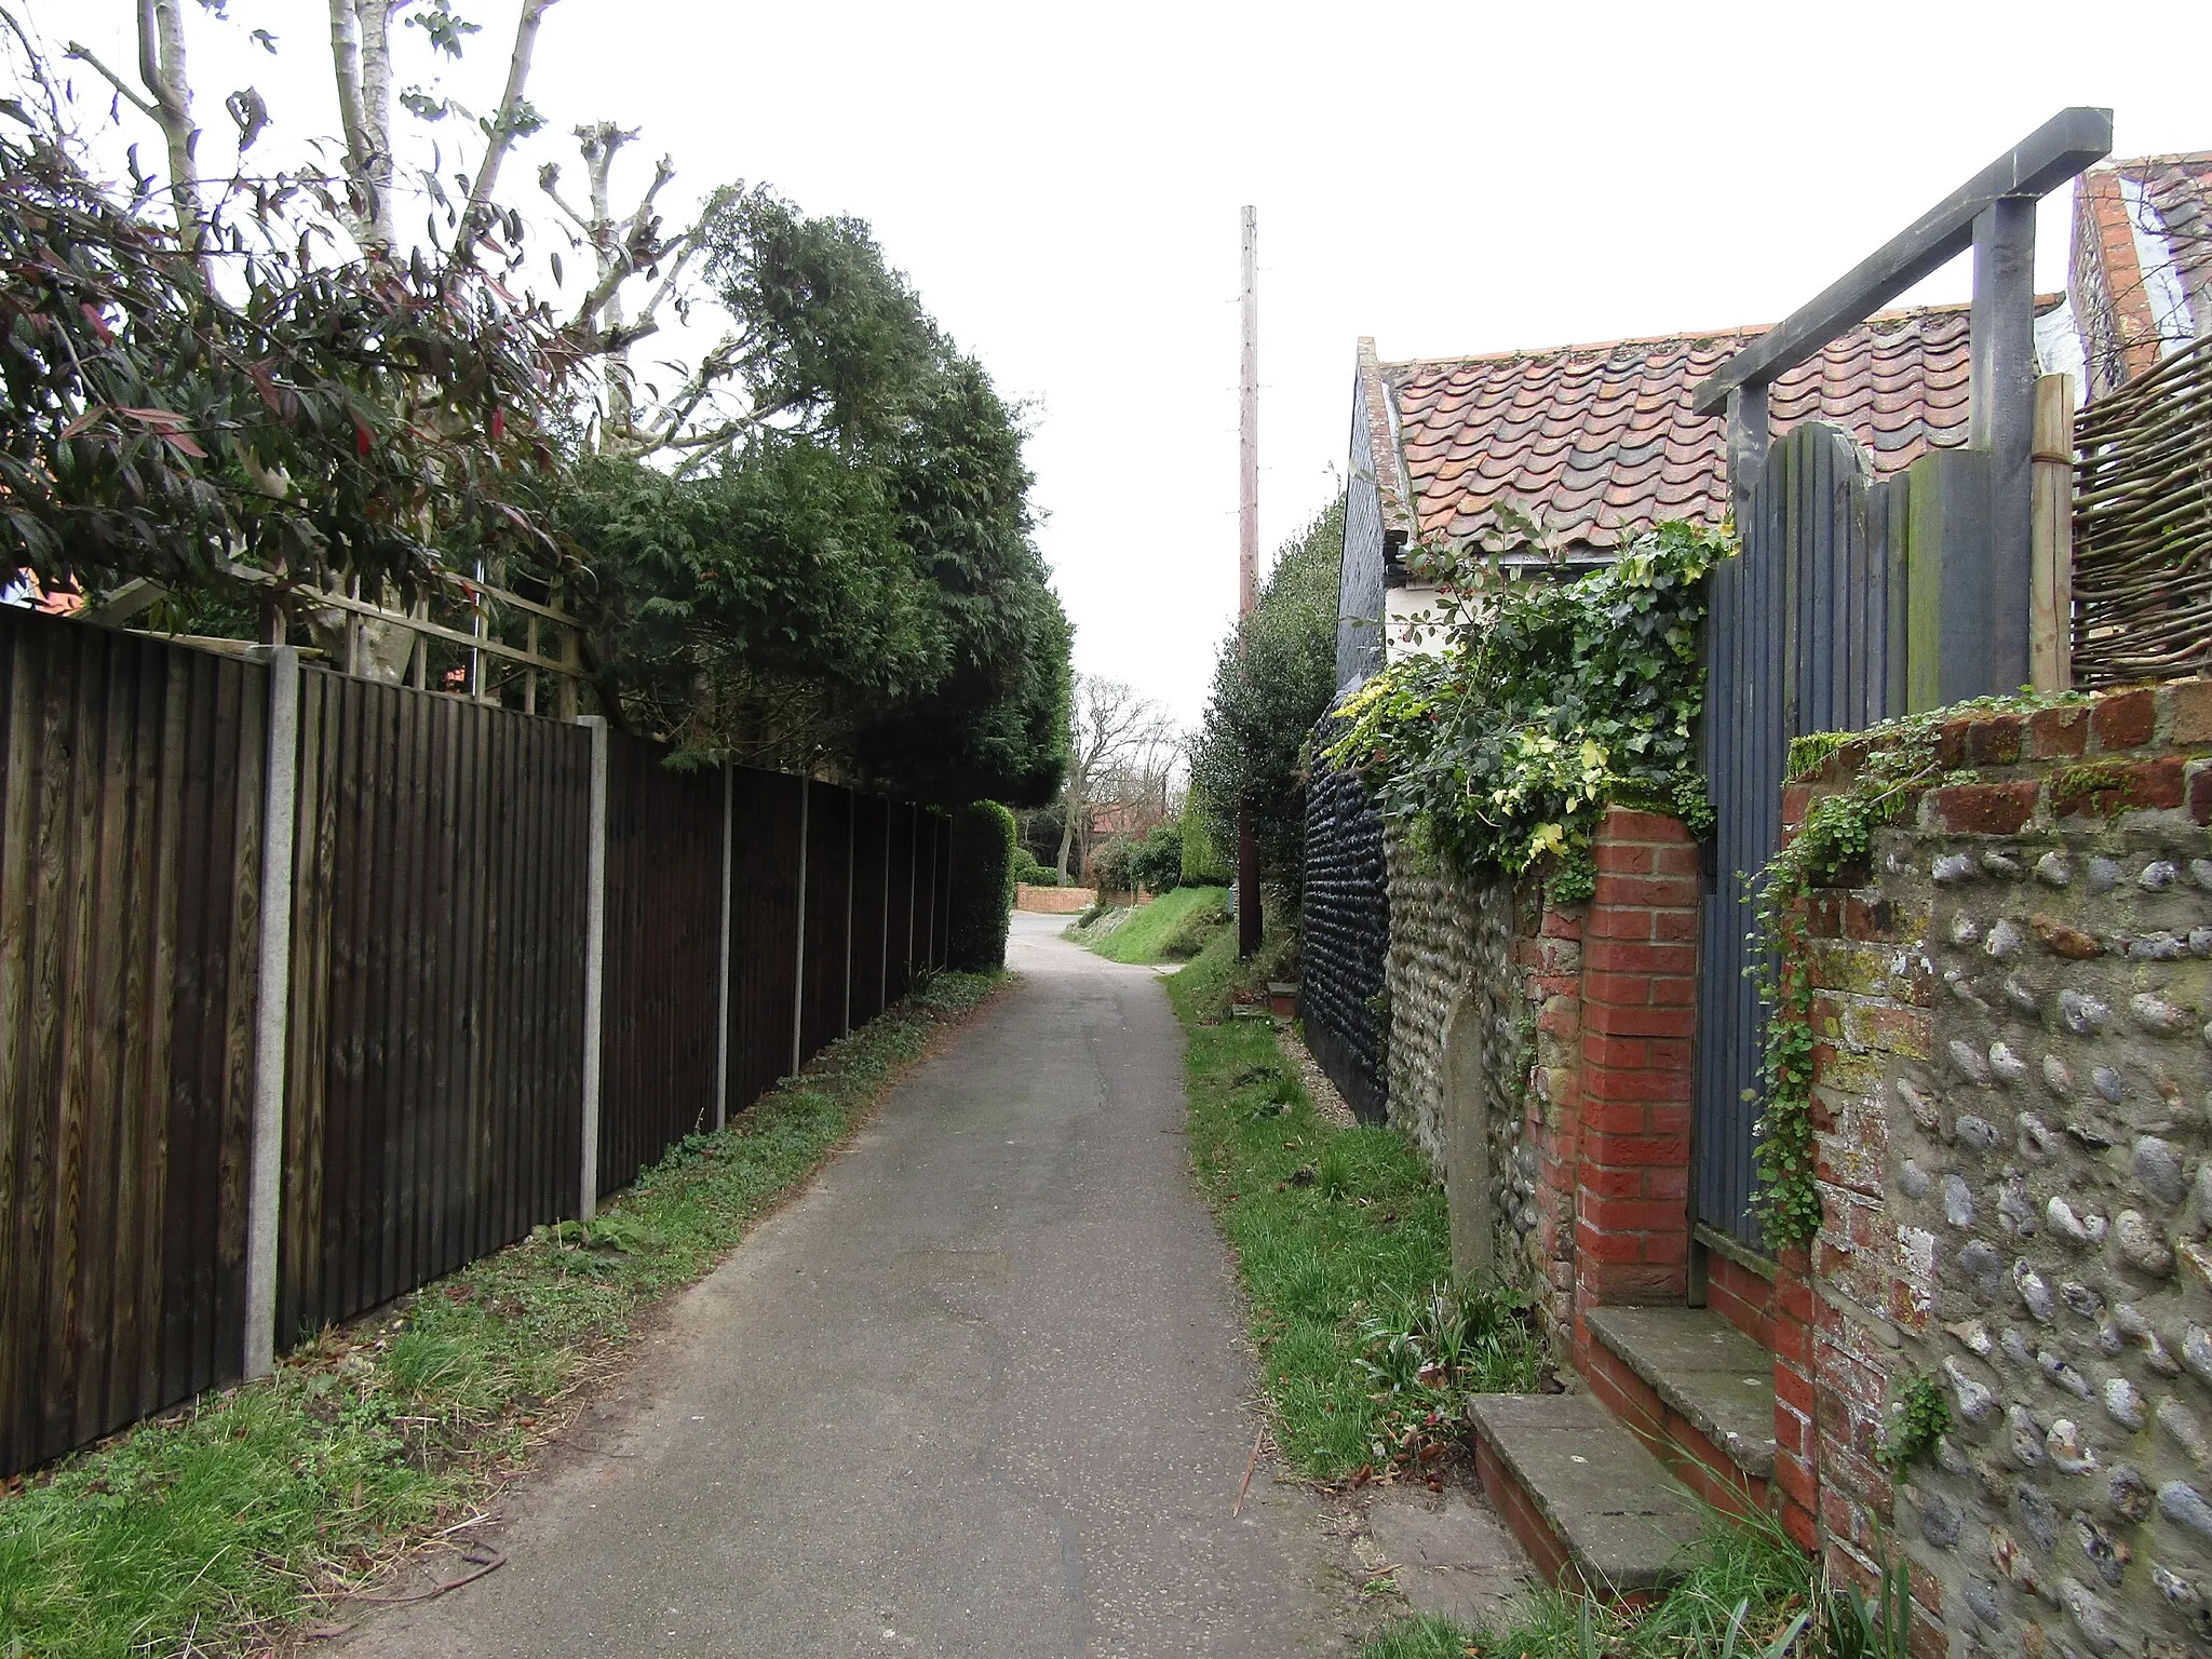
{"type": "Polygon", "coordinates": [[[1584,1323],[1739,1473],[1774,1478],[1774,1354],[1710,1307],[1590,1307],[1584,1323]]]}

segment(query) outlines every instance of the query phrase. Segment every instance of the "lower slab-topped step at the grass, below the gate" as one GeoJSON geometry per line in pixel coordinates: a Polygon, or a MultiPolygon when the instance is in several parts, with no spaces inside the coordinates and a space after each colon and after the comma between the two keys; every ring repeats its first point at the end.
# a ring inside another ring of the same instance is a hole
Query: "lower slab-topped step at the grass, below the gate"
{"type": "Polygon", "coordinates": [[[1588,1394],[1484,1394],[1475,1469],[1506,1526],[1562,1588],[1661,1588],[1703,1506],[1588,1394]]]}

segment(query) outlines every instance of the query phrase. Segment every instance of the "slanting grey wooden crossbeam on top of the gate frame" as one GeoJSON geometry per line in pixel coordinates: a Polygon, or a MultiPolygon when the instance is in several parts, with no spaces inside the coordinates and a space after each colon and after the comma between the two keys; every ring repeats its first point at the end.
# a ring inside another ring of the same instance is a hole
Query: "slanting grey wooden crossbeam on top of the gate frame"
{"type": "Polygon", "coordinates": [[[1736,387],[1765,387],[1973,246],[1975,219],[1997,201],[2048,195],[2112,153],[2112,111],[2064,108],[1947,195],[1816,299],[1736,352],[1690,394],[1719,414],[1736,387]]]}

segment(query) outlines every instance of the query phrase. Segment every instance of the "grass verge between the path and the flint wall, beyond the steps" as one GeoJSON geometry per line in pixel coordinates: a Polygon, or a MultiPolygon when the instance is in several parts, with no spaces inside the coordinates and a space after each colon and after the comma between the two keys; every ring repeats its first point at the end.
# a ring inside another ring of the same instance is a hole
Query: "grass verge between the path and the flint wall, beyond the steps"
{"type": "Polygon", "coordinates": [[[1467,1394],[1535,1387],[1511,1298],[1451,1285],[1444,1190],[1383,1126],[1314,1113],[1267,1020],[1232,1018],[1237,940],[1168,980],[1188,1029],[1190,1157],[1252,1303],[1283,1455],[1340,1480],[1455,1433],[1467,1394]]]}

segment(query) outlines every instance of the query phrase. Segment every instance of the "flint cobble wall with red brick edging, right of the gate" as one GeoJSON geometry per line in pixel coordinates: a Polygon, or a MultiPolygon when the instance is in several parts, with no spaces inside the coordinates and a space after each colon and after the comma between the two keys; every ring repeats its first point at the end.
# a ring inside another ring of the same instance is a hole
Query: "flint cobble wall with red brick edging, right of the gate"
{"type": "Polygon", "coordinates": [[[1964,717],[1940,761],[1805,911],[1823,1225],[1776,1283],[1785,1520],[1834,1571],[1909,1562],[1916,1652],[2205,1652],[2212,684],[1964,717]],[[1955,1431],[1891,1482],[1920,1376],[1955,1431]]]}

